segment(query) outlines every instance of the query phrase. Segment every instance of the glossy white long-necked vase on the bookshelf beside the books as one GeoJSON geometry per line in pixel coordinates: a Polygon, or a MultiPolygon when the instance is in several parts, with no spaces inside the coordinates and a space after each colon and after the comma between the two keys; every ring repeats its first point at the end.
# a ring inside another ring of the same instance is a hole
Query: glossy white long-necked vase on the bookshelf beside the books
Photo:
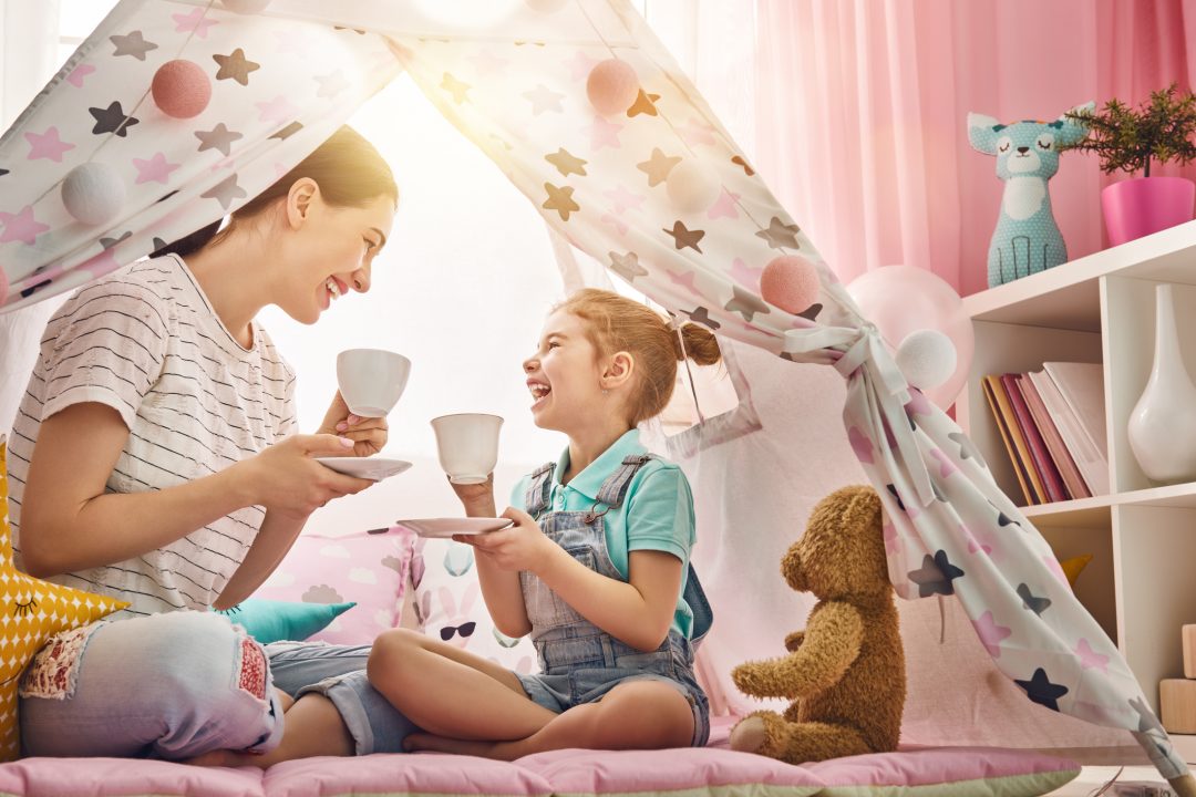
{"type": "Polygon", "coordinates": [[[1171,284],[1154,288],[1154,366],[1129,416],[1129,446],[1142,472],[1167,484],[1196,479],[1196,386],[1184,367],[1171,284]]]}

